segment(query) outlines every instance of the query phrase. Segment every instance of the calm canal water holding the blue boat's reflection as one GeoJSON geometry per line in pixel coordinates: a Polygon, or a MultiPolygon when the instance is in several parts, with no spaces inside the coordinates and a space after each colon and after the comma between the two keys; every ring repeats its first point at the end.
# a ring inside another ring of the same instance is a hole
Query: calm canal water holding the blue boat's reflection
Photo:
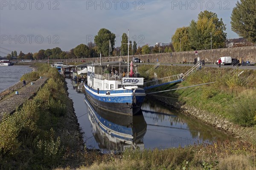
{"type": "Polygon", "coordinates": [[[231,138],[177,110],[166,108],[150,100],[144,102],[142,115],[130,116],[133,117],[132,126],[129,120],[113,118],[106,112],[91,114],[84,102],[84,94],[77,93],[73,87],[76,83],[70,79],[66,81],[69,97],[73,100],[87,148],[100,149],[103,153],[110,150],[122,151],[125,147],[134,145],[141,149],[152,150],[212,143],[212,141],[224,141],[231,138]],[[121,132],[125,135],[122,134],[120,137],[121,132]],[[134,138],[133,142],[129,141],[131,136],[134,138]],[[125,138],[125,142],[120,138],[125,138]]]}

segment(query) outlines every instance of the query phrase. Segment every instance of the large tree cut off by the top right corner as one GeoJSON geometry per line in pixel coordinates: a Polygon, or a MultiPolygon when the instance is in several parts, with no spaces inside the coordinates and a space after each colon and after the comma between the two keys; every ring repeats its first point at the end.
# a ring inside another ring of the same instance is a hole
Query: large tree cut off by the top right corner
{"type": "Polygon", "coordinates": [[[233,32],[256,43],[256,0],[237,1],[230,23],[233,32]]]}

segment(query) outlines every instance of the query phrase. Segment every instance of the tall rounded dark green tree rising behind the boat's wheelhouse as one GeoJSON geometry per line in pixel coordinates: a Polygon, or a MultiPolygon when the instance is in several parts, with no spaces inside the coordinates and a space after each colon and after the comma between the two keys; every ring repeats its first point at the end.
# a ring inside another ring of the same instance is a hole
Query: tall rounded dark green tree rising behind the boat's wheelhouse
{"type": "Polygon", "coordinates": [[[116,35],[108,29],[102,28],[99,30],[98,35],[94,37],[94,42],[98,48],[98,52],[104,56],[108,56],[109,40],[111,42],[111,49],[114,50],[116,35]]]}

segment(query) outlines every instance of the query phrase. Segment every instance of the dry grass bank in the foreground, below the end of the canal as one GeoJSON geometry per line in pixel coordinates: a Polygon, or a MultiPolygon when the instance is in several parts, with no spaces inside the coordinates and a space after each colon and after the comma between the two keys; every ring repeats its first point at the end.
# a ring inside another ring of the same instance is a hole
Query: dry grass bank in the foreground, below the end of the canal
{"type": "MultiPolygon", "coordinates": [[[[165,150],[133,150],[113,155],[86,155],[76,170],[255,170],[256,147],[248,142],[225,141],[165,150]]],[[[69,170],[56,168],[55,170],[69,170]]]]}

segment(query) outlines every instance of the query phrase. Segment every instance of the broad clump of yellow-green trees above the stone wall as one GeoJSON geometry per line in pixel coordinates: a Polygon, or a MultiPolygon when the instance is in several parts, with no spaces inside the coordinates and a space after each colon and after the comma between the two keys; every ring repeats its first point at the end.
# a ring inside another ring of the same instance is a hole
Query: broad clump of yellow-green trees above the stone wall
{"type": "Polygon", "coordinates": [[[172,36],[175,51],[217,49],[224,46],[227,33],[222,18],[209,11],[200,12],[198,20],[187,27],[178,28],[172,36]]]}

